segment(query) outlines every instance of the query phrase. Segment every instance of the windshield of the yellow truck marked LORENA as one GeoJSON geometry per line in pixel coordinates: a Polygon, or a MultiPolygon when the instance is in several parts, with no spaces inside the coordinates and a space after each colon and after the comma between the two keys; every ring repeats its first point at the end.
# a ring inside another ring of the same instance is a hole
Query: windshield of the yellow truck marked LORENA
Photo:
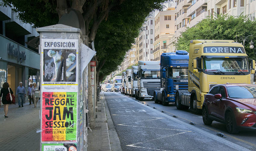
{"type": "Polygon", "coordinates": [[[249,72],[247,58],[204,58],[206,72],[249,72]]]}

